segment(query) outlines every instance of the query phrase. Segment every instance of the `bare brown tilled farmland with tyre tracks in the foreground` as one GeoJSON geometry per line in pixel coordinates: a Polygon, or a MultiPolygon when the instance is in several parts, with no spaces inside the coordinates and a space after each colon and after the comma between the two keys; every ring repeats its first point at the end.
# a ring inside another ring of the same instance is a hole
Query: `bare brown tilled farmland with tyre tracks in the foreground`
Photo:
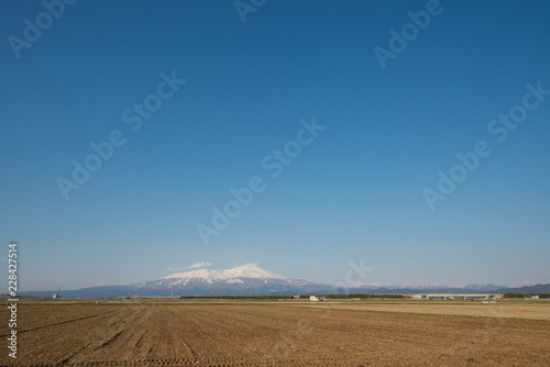
{"type": "MultiPolygon", "coordinates": [[[[2,322],[2,340],[8,333],[2,322]]],[[[244,303],[22,304],[16,363],[3,347],[0,364],[544,366],[549,341],[550,322],[504,318],[244,303]]]]}

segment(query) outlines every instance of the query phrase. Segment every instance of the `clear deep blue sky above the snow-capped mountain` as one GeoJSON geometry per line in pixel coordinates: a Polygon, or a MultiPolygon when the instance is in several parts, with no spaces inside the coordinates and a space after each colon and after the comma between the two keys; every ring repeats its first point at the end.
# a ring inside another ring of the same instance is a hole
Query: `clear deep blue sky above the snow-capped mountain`
{"type": "Polygon", "coordinates": [[[243,22],[233,1],[80,0],[51,24],[40,1],[0,3],[0,242],[19,241],[20,290],[198,262],[327,283],[360,259],[369,283],[550,282],[550,96],[504,142],[487,130],[526,85],[550,89],[546,1],[255,3],[243,22]],[[374,48],[427,7],[383,68],[374,48]],[[13,47],[25,19],[42,35],[13,47]],[[162,74],[186,82],[160,99],[162,74]],[[147,98],[162,105],[132,131],[122,114],[147,98]],[[326,129],[272,177],[262,160],[311,119],[326,129]],[[66,200],[58,179],[113,131],[124,144],[66,200]],[[491,155],[430,210],[422,191],[480,141],[491,155]],[[197,225],[255,176],[265,189],[206,246],[197,225]]]}

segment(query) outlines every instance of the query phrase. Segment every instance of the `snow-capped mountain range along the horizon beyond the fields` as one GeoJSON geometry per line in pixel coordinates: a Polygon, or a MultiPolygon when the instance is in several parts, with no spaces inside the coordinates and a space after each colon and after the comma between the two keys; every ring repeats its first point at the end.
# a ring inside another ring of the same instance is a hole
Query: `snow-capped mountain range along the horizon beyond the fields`
{"type": "MultiPolygon", "coordinates": [[[[95,286],[76,290],[65,290],[65,298],[105,298],[132,296],[289,296],[289,294],[330,294],[330,293],[504,293],[550,292],[550,285],[508,288],[496,285],[468,285],[465,287],[426,286],[426,287],[375,287],[359,285],[350,288],[320,285],[304,279],[289,279],[278,274],[248,264],[231,269],[198,269],[177,273],[167,277],[136,282],[132,285],[95,286]]],[[[20,296],[51,298],[55,291],[26,291],[20,296]]]]}

